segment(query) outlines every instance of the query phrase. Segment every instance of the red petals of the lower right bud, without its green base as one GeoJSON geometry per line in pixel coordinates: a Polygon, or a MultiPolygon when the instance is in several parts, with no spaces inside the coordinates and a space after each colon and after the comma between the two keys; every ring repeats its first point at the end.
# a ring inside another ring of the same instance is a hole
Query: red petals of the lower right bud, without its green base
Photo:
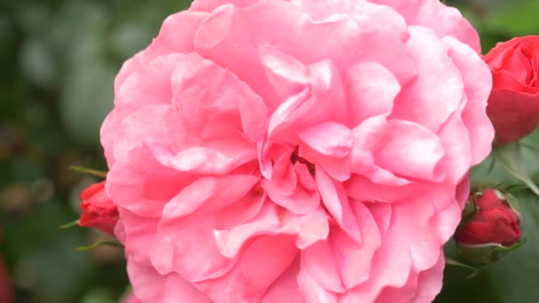
{"type": "Polygon", "coordinates": [[[455,239],[465,245],[497,244],[511,246],[522,236],[520,218],[497,190],[488,189],[476,198],[478,212],[455,239]]]}

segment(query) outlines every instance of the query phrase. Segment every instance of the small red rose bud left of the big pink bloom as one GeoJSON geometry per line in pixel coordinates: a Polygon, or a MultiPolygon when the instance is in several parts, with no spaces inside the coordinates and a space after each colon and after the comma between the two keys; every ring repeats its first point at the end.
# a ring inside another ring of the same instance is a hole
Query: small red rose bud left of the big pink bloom
{"type": "Polygon", "coordinates": [[[90,185],[81,193],[82,214],[79,225],[103,230],[113,235],[118,221],[118,209],[105,190],[105,181],[90,185]]]}

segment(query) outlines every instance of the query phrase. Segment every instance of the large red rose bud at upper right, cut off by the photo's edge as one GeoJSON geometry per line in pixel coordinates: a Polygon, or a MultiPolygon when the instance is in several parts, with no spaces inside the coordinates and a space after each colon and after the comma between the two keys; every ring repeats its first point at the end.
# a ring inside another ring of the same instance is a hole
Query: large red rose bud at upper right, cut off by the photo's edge
{"type": "Polygon", "coordinates": [[[539,36],[497,43],[483,59],[493,77],[487,114],[496,144],[517,141],[539,124],[539,36]]]}

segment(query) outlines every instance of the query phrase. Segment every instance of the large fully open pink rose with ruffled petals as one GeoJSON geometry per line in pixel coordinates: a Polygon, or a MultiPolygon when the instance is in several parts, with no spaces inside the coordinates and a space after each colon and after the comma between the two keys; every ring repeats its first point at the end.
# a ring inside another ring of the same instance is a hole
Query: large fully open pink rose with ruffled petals
{"type": "Polygon", "coordinates": [[[491,78],[438,0],[199,0],[101,128],[142,302],[429,302],[490,151],[491,78]]]}

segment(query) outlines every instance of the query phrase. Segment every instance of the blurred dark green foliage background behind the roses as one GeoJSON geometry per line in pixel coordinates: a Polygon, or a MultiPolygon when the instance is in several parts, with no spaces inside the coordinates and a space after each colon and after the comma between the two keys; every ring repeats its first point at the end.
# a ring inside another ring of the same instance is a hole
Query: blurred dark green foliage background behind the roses
{"type": "MultiPolygon", "coordinates": [[[[0,0],[0,255],[16,302],[108,303],[126,290],[120,249],[78,252],[105,236],[58,229],[77,218],[78,194],[97,181],[69,167],[105,169],[98,130],[112,109],[114,75],[168,14],[189,3],[0,0]]],[[[484,51],[512,36],[539,34],[537,0],[448,4],[479,29],[484,51]]],[[[527,141],[539,145],[539,135],[527,141]]],[[[527,162],[539,172],[535,152],[527,152],[527,162]]],[[[473,177],[515,183],[499,169],[487,175],[479,168],[473,177]]],[[[526,204],[527,245],[471,280],[465,269],[448,268],[438,302],[539,302],[539,200],[518,195],[526,204]]]]}

